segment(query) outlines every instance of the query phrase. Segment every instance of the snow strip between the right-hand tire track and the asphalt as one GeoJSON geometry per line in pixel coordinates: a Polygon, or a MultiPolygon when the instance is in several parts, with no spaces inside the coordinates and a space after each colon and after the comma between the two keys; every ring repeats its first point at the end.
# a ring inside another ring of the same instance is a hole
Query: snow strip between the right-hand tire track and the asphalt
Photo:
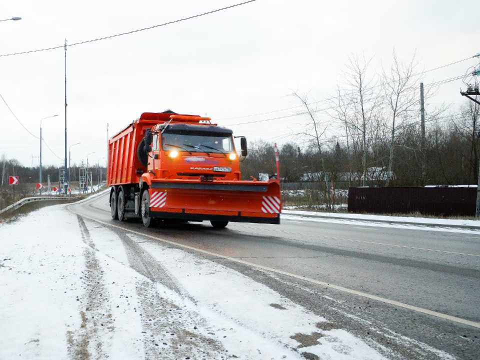
{"type": "Polygon", "coordinates": [[[256,358],[255,351],[268,339],[276,348],[263,348],[263,358],[282,357],[296,348],[298,353],[311,352],[320,358],[382,358],[345,330],[322,330],[325,318],[237,271],[158,243],[147,242],[142,247],[193,296],[198,311],[218,324],[220,340],[230,352],[256,358]]]}

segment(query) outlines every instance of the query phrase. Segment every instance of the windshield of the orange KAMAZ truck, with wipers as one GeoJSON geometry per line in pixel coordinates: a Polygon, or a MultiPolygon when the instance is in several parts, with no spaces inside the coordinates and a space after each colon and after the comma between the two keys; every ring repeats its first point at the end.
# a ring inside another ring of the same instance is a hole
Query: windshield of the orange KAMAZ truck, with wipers
{"type": "Polygon", "coordinates": [[[230,133],[206,131],[165,131],[161,135],[161,147],[165,151],[185,147],[188,147],[186,151],[195,152],[225,153],[233,151],[230,133]]]}

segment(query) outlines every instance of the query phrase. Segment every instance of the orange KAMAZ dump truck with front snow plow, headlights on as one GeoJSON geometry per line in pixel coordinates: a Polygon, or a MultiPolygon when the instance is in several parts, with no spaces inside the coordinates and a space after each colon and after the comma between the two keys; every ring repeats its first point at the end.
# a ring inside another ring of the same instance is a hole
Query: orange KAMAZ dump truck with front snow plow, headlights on
{"type": "MultiPolygon", "coordinates": [[[[240,136],[241,155],[246,139],[240,136]]],[[[280,223],[277,180],[241,180],[230,129],[208,117],[144,112],[108,140],[112,219],[280,223]]]]}

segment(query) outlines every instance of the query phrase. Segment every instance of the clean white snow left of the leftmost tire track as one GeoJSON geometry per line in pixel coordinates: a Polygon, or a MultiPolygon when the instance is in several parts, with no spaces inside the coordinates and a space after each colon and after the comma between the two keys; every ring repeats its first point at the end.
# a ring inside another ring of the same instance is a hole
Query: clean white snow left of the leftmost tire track
{"type": "Polygon", "coordinates": [[[0,226],[0,358],[66,358],[80,326],[83,243],[60,206],[0,226]]]}

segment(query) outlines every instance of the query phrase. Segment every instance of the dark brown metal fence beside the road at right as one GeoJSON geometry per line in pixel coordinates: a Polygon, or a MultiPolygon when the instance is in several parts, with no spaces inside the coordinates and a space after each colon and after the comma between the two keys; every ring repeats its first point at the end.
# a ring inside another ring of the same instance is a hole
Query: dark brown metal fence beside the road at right
{"type": "Polygon", "coordinates": [[[474,216],[476,187],[349,187],[348,212],[474,216]]]}

